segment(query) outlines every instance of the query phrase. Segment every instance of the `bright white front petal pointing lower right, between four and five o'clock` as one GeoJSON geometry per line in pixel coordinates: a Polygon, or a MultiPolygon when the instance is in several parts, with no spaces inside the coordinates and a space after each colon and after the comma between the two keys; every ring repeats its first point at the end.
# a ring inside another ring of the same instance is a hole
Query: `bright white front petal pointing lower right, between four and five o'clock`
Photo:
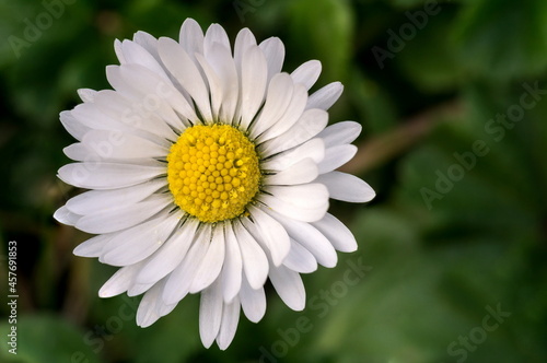
{"type": "Polygon", "coordinates": [[[268,211],[287,230],[291,238],[301,244],[312,253],[317,262],[325,267],[335,267],[338,261],[336,250],[330,242],[314,226],[309,223],[300,222],[268,211]]]}

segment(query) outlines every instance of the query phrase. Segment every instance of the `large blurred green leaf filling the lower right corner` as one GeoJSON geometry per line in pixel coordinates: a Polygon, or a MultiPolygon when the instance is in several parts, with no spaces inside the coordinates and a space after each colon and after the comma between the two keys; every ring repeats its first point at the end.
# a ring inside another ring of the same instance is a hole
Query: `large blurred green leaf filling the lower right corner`
{"type": "MultiPolygon", "coordinates": [[[[542,362],[547,355],[532,338],[543,333],[547,318],[538,307],[547,298],[542,288],[547,269],[529,262],[547,257],[542,245],[545,194],[537,192],[546,184],[538,155],[547,152],[537,142],[546,129],[537,117],[547,101],[525,110],[499,140],[485,129],[497,114],[520,105],[527,90],[515,85],[488,92],[469,84],[462,119],[440,126],[401,161],[393,204],[357,215],[353,232],[363,244],[345,259],[361,258],[373,269],[354,286],[344,279],[342,264],[340,274],[322,281],[326,291],[338,285],[338,294],[346,294],[319,295],[329,309],[311,321],[316,330],[309,337],[316,337],[309,338],[314,344],[309,350],[315,360],[516,362],[525,356],[542,362]],[[477,140],[489,152],[470,156],[477,140]],[[454,165],[464,173],[458,180],[450,179],[457,175],[454,165]],[[435,189],[443,178],[439,175],[449,180],[445,191],[435,189]],[[442,197],[431,210],[421,194],[424,187],[442,197]],[[346,290],[339,288],[345,284],[346,290]],[[485,317],[492,311],[504,313],[487,331],[485,317]]],[[[526,99],[534,101],[532,95],[526,99]]]]}

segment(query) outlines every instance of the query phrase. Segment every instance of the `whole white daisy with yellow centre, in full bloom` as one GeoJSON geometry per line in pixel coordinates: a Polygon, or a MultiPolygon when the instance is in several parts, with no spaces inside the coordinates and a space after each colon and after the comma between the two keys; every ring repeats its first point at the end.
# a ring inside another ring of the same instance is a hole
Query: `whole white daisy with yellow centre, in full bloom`
{"type": "Polygon", "coordinates": [[[63,112],[79,142],[59,178],[91,189],[55,213],[96,234],[74,249],[120,269],[102,297],[144,293],[137,324],[150,326],[188,293],[201,293],[199,332],[210,347],[232,341],[240,307],[266,311],[269,278],[292,309],[305,305],[300,273],[334,267],[353,251],[351,232],[327,213],[328,199],[365,202],[361,179],[335,169],[356,154],[361,127],[327,127],[339,82],[309,95],[321,63],[281,72],[284,47],[242,30],[232,49],[224,30],[203,35],[191,19],[179,42],[138,32],[115,42],[113,90],[80,90],[63,112]]]}

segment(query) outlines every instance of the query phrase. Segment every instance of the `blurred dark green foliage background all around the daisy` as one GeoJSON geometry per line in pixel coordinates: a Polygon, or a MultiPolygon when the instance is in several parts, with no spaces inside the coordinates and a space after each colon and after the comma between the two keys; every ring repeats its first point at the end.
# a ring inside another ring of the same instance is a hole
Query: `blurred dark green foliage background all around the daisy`
{"type": "Polygon", "coordinates": [[[547,361],[545,0],[66,0],[48,24],[49,3],[0,1],[1,362],[547,361]],[[109,87],[115,38],[177,37],[188,16],[232,42],[245,26],[279,36],[289,72],[319,59],[317,86],[346,86],[330,120],[363,126],[345,171],[377,192],[331,203],[360,247],[303,277],[307,308],[268,285],[265,318],[242,317],[224,352],[200,343],[197,296],[146,329],[140,297],[100,298],[115,268],[73,256],[89,236],[51,218],[80,192],[56,178],[73,141],[59,112],[77,89],[109,87]],[[5,343],[9,241],[18,355],[5,343]]]}

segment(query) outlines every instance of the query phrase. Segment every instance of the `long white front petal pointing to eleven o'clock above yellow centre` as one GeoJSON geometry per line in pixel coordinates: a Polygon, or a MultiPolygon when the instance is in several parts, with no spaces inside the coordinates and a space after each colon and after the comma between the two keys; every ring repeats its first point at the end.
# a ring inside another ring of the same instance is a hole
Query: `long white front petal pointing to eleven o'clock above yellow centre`
{"type": "MultiPolygon", "coordinates": [[[[158,42],[158,50],[171,74],[190,94],[203,120],[212,121],[209,93],[196,63],[194,63],[183,47],[171,38],[161,37],[158,42]]],[[[190,121],[194,124],[197,122],[194,118],[190,121]]]]}

